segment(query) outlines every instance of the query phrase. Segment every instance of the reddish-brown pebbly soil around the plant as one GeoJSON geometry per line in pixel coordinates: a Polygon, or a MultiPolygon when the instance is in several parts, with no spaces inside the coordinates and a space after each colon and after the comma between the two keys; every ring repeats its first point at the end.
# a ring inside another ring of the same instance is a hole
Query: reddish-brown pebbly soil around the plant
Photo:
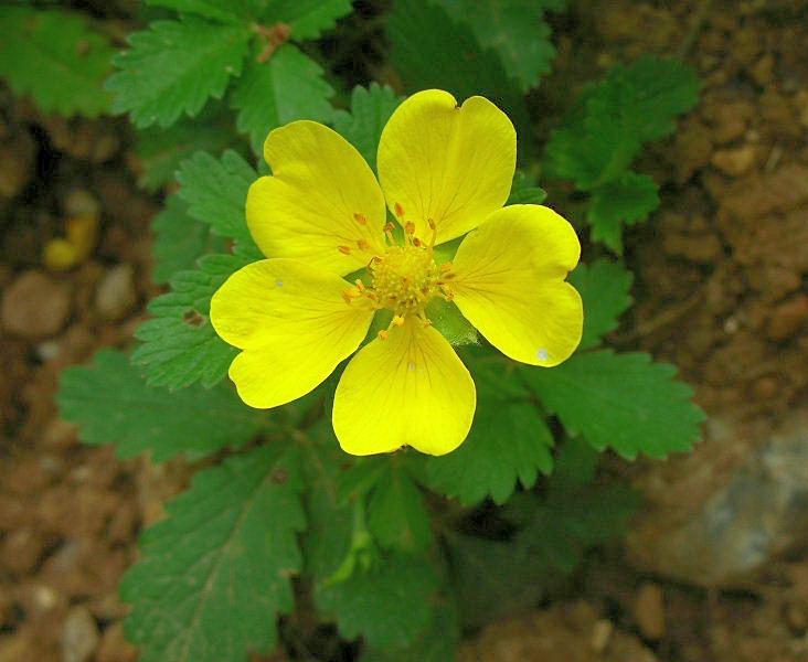
{"type": "MultiPolygon", "coordinates": [[[[615,344],[677,364],[712,417],[787,417],[808,387],[808,3],[603,0],[556,29],[556,72],[534,99],[549,118],[568,102],[561,81],[645,52],[683,55],[704,82],[676,137],[638,163],[663,204],[627,235],[637,306],[615,344]]],[[[125,121],[65,122],[0,93],[0,662],[137,659],[116,587],[183,468],[83,447],[53,405],[62,369],[128,346],[158,291],[159,201],[136,174],[125,121]],[[92,255],[45,268],[44,245],[94,206],[92,255]]],[[[655,502],[682,467],[726,476],[748,450],[727,459],[705,444],[691,465],[618,470],[656,484],[655,502]]],[[[798,662],[807,631],[808,540],[732,588],[672,580],[617,549],[535,612],[477,633],[463,659],[798,662]]]]}

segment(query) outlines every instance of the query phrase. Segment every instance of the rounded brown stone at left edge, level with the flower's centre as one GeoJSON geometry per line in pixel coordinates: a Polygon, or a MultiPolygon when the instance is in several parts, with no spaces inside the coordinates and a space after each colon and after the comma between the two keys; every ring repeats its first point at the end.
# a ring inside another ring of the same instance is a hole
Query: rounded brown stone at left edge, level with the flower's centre
{"type": "Polygon", "coordinates": [[[22,338],[54,335],[71,314],[72,288],[42,271],[19,276],[3,290],[0,302],[2,327],[22,338]]]}

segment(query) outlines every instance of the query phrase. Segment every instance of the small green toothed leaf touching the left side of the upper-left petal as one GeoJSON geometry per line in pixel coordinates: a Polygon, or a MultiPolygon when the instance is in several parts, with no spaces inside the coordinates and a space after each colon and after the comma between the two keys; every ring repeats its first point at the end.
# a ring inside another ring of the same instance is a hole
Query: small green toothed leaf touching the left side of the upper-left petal
{"type": "Polygon", "coordinates": [[[188,213],[206,223],[222,237],[253,245],[244,206],[249,185],[258,179],[255,170],[234,151],[221,159],[196,152],[182,162],[177,181],[180,197],[189,205],[188,213]]]}

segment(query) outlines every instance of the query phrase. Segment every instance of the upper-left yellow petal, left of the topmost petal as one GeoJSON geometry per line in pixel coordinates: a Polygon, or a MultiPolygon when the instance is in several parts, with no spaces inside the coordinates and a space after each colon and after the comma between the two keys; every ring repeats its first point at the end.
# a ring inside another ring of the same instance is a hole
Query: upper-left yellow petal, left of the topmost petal
{"type": "Polygon", "coordinates": [[[258,179],[247,194],[247,225],[264,255],[344,275],[383,250],[381,189],[339,134],[294,121],[269,134],[264,158],[273,175],[258,179]]]}

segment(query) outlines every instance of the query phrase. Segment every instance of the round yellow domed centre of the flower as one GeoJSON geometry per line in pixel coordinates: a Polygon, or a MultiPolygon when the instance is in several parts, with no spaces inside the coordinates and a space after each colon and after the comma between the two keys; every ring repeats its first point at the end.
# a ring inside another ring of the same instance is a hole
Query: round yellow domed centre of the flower
{"type": "Polygon", "coordinates": [[[402,317],[423,312],[438,290],[440,270],[425,247],[391,246],[369,270],[379,305],[402,317]]]}

